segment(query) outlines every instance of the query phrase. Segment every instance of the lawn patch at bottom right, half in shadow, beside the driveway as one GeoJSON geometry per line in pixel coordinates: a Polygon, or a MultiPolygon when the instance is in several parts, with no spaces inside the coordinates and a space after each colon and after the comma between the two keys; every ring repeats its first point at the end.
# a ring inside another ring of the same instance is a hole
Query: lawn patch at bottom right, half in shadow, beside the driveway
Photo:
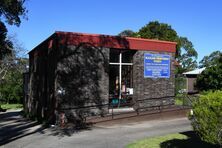
{"type": "Polygon", "coordinates": [[[146,138],[128,144],[127,148],[216,148],[218,146],[202,142],[192,131],[146,138]]]}

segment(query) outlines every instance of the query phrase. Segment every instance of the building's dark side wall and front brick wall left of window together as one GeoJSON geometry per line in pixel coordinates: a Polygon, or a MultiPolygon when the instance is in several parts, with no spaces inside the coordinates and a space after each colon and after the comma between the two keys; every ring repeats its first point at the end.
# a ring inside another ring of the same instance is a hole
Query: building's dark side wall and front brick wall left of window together
{"type": "Polygon", "coordinates": [[[29,54],[30,89],[25,112],[39,120],[55,122],[108,112],[109,48],[47,44],[29,54]],[[96,106],[96,107],[89,107],[96,106]]]}

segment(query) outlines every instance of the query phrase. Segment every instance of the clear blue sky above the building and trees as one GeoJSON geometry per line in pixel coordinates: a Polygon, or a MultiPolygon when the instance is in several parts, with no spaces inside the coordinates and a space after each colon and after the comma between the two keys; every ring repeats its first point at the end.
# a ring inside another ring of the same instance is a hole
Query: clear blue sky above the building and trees
{"type": "Polygon", "coordinates": [[[156,20],[187,37],[198,61],[222,50],[222,0],[27,0],[25,7],[28,20],[7,27],[28,51],[55,31],[117,35],[156,20]]]}

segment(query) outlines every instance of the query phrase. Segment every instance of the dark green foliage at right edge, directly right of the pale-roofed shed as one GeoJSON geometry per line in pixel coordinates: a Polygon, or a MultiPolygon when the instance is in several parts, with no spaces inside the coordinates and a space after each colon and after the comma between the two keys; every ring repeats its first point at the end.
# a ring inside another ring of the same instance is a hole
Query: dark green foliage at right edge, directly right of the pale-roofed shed
{"type": "Polygon", "coordinates": [[[196,87],[203,90],[222,89],[222,55],[214,61],[214,65],[206,69],[197,77],[196,87]]]}

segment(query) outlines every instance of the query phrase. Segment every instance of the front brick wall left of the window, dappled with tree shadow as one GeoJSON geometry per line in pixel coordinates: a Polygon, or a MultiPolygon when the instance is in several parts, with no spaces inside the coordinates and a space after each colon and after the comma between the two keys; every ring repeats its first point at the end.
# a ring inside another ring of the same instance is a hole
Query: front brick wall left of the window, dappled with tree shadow
{"type": "Polygon", "coordinates": [[[55,90],[57,111],[65,113],[73,122],[85,116],[106,114],[109,48],[83,44],[59,50],[55,90]]]}

